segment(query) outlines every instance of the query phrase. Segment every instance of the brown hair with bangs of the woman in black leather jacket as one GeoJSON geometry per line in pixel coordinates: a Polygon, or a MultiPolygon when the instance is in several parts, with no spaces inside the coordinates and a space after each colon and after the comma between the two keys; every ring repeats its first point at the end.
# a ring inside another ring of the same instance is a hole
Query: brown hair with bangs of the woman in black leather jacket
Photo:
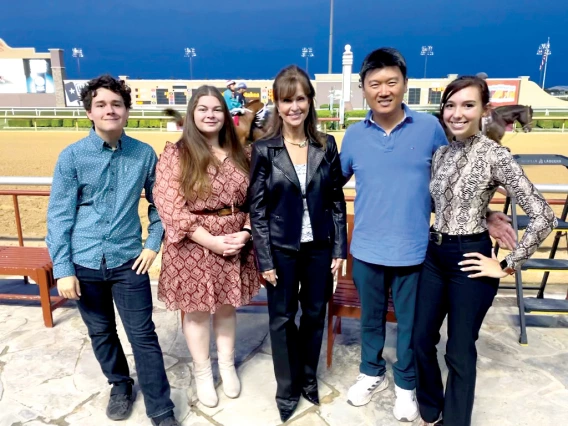
{"type": "Polygon", "coordinates": [[[308,97],[310,103],[310,110],[308,112],[306,120],[304,121],[304,133],[309,140],[314,141],[325,148],[327,138],[325,134],[319,132],[317,129],[318,117],[314,105],[316,91],[308,75],[304,72],[304,70],[296,65],[290,65],[282,69],[274,80],[274,84],[272,85],[272,92],[274,95],[275,111],[270,119],[270,130],[263,137],[263,139],[271,139],[282,136],[283,123],[280,114],[278,114],[278,102],[281,99],[286,99],[294,96],[298,88],[298,84],[308,97]]]}

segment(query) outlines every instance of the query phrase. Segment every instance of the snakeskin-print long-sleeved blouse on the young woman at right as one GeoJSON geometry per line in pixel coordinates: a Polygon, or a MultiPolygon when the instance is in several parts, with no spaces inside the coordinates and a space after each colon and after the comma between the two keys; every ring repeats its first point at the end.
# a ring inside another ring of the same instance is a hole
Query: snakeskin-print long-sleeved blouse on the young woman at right
{"type": "Polygon", "coordinates": [[[518,269],[556,227],[557,219],[509,149],[481,133],[440,147],[432,158],[434,229],[451,235],[487,230],[487,206],[499,186],[515,196],[530,218],[517,247],[505,258],[518,269]]]}

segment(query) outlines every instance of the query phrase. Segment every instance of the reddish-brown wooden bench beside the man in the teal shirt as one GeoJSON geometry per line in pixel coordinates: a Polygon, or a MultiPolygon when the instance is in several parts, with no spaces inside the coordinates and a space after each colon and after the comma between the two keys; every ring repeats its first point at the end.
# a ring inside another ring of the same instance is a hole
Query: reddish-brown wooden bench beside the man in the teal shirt
{"type": "Polygon", "coordinates": [[[18,275],[34,280],[39,287],[39,296],[0,294],[0,300],[39,300],[45,326],[53,327],[52,312],[67,299],[49,294],[55,287],[55,280],[46,248],[0,246],[0,275],[18,275]]]}

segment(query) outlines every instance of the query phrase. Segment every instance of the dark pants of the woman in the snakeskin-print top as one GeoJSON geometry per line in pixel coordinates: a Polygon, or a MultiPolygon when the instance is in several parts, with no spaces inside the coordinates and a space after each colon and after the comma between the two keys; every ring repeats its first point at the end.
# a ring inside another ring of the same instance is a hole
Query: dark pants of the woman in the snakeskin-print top
{"type": "Polygon", "coordinates": [[[440,413],[444,426],[469,426],[475,395],[477,349],[475,342],[485,314],[491,307],[499,280],[468,278],[461,271],[464,253],[491,257],[489,234],[453,237],[441,245],[430,241],[418,284],[414,316],[416,397],[420,414],[434,422],[440,413]],[[448,316],[446,365],[448,380],[444,396],[442,374],[436,356],[440,328],[448,316]]]}

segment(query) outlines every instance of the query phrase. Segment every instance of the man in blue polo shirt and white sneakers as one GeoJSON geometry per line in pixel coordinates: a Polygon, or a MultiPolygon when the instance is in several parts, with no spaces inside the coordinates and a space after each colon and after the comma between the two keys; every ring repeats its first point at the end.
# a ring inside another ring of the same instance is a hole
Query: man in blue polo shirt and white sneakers
{"type": "MultiPolygon", "coordinates": [[[[393,414],[399,421],[411,422],[419,415],[411,337],[429,237],[430,165],[434,152],[448,141],[434,116],[403,104],[408,79],[406,62],[397,50],[373,51],[359,75],[371,110],[349,127],[340,153],[345,179],[355,175],[350,251],[361,300],[361,374],[347,397],[351,405],[361,406],[388,387],[382,353],[391,289],[398,322],[393,414]]],[[[515,234],[503,220],[498,214],[492,218],[499,223],[490,228],[491,235],[510,247],[515,234]]]]}

